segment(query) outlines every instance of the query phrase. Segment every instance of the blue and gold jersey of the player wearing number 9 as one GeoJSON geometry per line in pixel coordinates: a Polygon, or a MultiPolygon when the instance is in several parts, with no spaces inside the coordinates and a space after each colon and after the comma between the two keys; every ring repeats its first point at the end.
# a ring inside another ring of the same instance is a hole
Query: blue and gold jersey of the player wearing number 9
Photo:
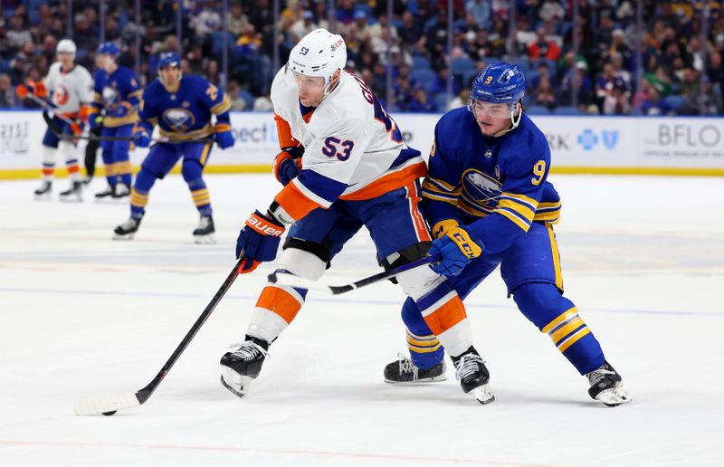
{"type": "Polygon", "coordinates": [[[527,115],[517,129],[491,138],[462,107],[443,115],[434,137],[423,183],[431,225],[457,220],[486,253],[499,253],[532,222],[558,221],[560,198],[547,180],[548,141],[527,115]]]}

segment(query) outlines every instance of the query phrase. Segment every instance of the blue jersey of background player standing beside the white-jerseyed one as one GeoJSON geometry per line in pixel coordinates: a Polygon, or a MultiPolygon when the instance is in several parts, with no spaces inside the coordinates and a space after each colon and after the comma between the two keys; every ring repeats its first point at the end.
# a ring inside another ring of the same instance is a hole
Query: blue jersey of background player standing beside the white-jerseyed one
{"type": "Polygon", "coordinates": [[[105,110],[103,126],[116,128],[138,121],[141,98],[138,78],[129,68],[119,66],[116,71],[96,71],[93,91],[93,112],[105,110]]]}

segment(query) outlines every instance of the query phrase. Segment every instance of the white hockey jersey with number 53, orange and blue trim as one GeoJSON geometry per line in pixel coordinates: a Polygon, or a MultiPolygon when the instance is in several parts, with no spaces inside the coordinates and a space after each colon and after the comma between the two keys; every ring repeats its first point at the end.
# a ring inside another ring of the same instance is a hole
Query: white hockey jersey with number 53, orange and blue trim
{"type": "Polygon", "coordinates": [[[337,199],[384,195],[426,174],[420,152],[407,147],[395,120],[359,77],[343,71],[319,107],[302,115],[307,109],[285,68],[271,84],[271,102],[305,150],[300,175],[275,200],[293,219],[337,199]]]}

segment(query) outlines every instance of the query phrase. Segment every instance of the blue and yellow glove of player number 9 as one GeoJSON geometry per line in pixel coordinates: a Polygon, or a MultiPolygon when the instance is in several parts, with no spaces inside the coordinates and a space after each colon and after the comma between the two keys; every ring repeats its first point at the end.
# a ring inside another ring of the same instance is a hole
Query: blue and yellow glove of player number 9
{"type": "Polygon", "coordinates": [[[430,267],[434,272],[445,276],[456,276],[462,269],[482,253],[482,243],[475,243],[465,227],[452,227],[435,240],[427,252],[429,256],[439,256],[440,262],[433,262],[430,267]]]}

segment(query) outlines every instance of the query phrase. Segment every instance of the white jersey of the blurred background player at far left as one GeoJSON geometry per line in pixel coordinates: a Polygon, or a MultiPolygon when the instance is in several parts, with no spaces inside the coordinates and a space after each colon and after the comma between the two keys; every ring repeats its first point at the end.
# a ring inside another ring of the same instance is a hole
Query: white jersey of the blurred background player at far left
{"type": "Polygon", "coordinates": [[[81,65],[74,65],[71,71],[63,72],[61,62],[54,62],[43,79],[43,86],[52,94],[52,104],[63,114],[76,114],[81,105],[93,100],[93,78],[81,65]]]}

